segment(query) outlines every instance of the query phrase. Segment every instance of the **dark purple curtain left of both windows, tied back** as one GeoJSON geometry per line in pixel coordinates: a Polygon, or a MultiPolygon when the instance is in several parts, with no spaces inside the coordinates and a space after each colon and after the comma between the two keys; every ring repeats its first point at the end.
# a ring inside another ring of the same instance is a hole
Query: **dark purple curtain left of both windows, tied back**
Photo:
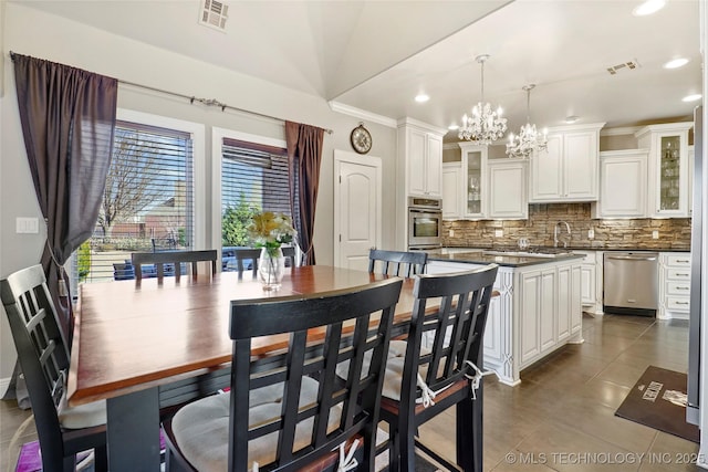
{"type": "Polygon", "coordinates": [[[71,345],[73,313],[63,265],[93,232],[111,165],[118,82],[12,54],[22,134],[46,223],[42,265],[71,345]]]}

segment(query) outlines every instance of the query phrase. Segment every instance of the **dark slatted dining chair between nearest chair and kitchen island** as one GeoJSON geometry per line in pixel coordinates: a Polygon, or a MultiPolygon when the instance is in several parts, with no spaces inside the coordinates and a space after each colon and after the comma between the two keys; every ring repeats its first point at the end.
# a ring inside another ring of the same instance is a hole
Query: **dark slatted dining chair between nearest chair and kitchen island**
{"type": "Polygon", "coordinates": [[[460,440],[461,437],[469,440],[473,434],[469,421],[461,421],[466,423],[465,431],[458,428],[456,465],[436,455],[415,437],[420,424],[454,405],[458,405],[461,415],[460,403],[475,396],[469,379],[479,375],[475,366],[482,367],[482,338],[497,272],[498,266],[489,264],[467,272],[416,279],[399,398],[382,400],[382,419],[389,424],[393,471],[415,470],[416,445],[455,470],[473,470],[473,460],[481,461],[481,451],[470,450],[460,440]],[[433,401],[426,401],[426,397],[433,401]]]}

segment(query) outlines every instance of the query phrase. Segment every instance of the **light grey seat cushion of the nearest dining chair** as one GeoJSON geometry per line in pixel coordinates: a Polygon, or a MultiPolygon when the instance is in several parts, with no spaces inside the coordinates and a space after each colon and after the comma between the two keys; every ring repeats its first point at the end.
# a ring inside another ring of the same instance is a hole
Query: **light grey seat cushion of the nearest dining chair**
{"type": "MultiPolygon", "coordinates": [[[[317,399],[319,384],[303,377],[300,408],[306,408],[317,399]]],[[[281,415],[283,384],[251,391],[249,424],[268,422],[281,415]]],[[[229,459],[229,402],[230,394],[214,395],[179,409],[171,421],[173,434],[181,454],[201,472],[222,472],[229,459]]],[[[339,426],[341,407],[332,409],[327,431],[339,426]]],[[[294,450],[310,444],[313,420],[302,421],[295,431],[294,450]]],[[[249,443],[248,464],[269,464],[275,460],[278,432],[258,438],[249,443]]]]}

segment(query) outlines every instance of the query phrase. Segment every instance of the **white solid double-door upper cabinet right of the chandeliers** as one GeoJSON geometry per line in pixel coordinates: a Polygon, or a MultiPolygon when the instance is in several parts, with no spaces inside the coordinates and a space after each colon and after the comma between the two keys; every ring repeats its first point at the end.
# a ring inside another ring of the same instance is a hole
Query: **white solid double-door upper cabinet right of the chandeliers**
{"type": "Polygon", "coordinates": [[[604,123],[549,128],[548,149],[531,156],[529,202],[595,201],[600,128],[604,123]]]}

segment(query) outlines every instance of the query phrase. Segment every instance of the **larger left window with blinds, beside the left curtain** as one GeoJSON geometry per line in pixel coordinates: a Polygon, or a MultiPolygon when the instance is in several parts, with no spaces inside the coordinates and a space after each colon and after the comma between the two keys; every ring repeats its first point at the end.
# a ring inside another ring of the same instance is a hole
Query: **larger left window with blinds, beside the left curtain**
{"type": "Polygon", "coordinates": [[[190,133],[116,123],[98,220],[73,258],[75,283],[132,279],[132,252],[195,247],[192,149],[190,133]]]}

